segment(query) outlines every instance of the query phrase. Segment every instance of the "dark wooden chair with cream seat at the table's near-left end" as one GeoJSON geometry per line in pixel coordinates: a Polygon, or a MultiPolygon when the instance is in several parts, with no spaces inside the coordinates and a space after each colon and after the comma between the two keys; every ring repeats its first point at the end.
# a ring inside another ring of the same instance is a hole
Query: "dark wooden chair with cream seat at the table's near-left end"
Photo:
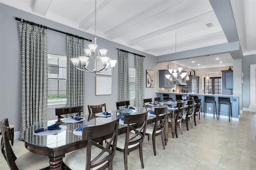
{"type": "Polygon", "coordinates": [[[49,169],[49,157],[26,152],[20,157],[16,157],[9,140],[11,140],[11,129],[9,127],[8,119],[0,122],[0,129],[2,132],[1,150],[9,168],[11,170],[46,170],[49,169]]]}

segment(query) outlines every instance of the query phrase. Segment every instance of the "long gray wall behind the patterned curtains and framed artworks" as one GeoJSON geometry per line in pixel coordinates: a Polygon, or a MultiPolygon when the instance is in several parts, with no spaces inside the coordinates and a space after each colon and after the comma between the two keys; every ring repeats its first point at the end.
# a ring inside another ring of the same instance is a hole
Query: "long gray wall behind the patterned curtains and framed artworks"
{"type": "MultiPolygon", "coordinates": [[[[21,60],[19,29],[15,17],[91,40],[94,36],[0,3],[0,120],[9,118],[10,124],[15,125],[14,130],[19,131],[21,118],[21,60]]],[[[87,46],[90,42],[85,41],[85,43],[87,46]]],[[[108,49],[108,56],[116,60],[118,59],[116,48],[145,55],[145,76],[146,69],[154,70],[156,68],[156,57],[153,55],[99,37],[97,37],[97,44],[99,48],[108,49]]],[[[48,30],[48,53],[66,55],[65,34],[48,30]]],[[[129,65],[131,67],[134,67],[134,62],[134,55],[129,54],[129,65]]],[[[157,70],[155,71],[157,72],[157,70]]],[[[86,105],[106,103],[108,110],[115,109],[116,101],[118,101],[118,65],[112,70],[112,95],[95,95],[95,77],[95,73],[86,73],[86,105]]],[[[144,84],[146,86],[146,77],[144,84]]],[[[153,97],[155,95],[154,89],[145,87],[145,97],[153,97]]],[[[131,101],[131,103],[133,102],[131,101]]],[[[48,109],[48,120],[54,118],[56,118],[55,108],[48,109]]]]}

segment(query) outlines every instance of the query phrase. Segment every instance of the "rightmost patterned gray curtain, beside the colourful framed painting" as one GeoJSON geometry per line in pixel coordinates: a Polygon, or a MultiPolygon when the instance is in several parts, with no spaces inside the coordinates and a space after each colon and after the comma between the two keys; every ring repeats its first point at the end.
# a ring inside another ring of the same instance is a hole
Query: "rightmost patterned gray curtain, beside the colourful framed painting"
{"type": "Polygon", "coordinates": [[[135,55],[135,106],[142,106],[144,99],[144,57],[135,55]]]}

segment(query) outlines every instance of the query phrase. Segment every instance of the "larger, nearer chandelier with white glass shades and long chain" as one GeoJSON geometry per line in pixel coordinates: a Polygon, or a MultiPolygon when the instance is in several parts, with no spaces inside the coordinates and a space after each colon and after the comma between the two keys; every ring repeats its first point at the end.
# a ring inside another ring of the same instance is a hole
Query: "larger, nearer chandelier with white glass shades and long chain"
{"type": "Polygon", "coordinates": [[[100,49],[98,50],[98,45],[96,43],[96,0],[95,0],[95,18],[94,18],[94,44],[89,44],[88,47],[89,49],[84,49],[86,56],[80,56],[76,58],[71,58],[70,60],[72,61],[74,67],[81,71],[86,71],[86,72],[91,72],[91,73],[96,73],[96,72],[107,72],[112,69],[114,69],[116,65],[116,60],[110,59],[109,57],[106,57],[107,49],[100,49]],[[101,55],[96,54],[96,49],[97,52],[101,55]],[[92,60],[94,62],[94,69],[90,70],[88,69],[89,61],[92,60]],[[79,61],[81,62],[82,68],[78,67],[79,61]],[[100,62],[100,68],[97,68],[97,62],[100,62]],[[111,69],[108,69],[109,65],[111,65],[111,69]]]}

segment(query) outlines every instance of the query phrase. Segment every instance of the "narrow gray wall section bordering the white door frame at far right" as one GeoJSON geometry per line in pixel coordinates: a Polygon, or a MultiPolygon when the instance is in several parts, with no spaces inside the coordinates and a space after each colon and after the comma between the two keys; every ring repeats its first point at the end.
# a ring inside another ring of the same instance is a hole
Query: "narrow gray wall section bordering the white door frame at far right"
{"type": "Polygon", "coordinates": [[[250,65],[256,64],[256,54],[245,55],[242,61],[242,70],[244,72],[244,84],[242,84],[243,108],[250,105],[250,65]]]}

